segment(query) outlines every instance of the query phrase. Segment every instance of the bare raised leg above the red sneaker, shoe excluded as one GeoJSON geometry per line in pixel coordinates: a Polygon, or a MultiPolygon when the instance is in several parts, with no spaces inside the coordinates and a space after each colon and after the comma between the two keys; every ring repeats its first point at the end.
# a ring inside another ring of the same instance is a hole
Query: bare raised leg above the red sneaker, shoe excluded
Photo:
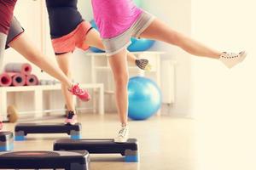
{"type": "Polygon", "coordinates": [[[50,76],[61,81],[68,88],[72,87],[72,82],[65,76],[61,69],[57,65],[54,65],[51,59],[47,58],[38,49],[34,48],[32,42],[28,40],[25,33],[20,35],[15,41],[10,42],[9,46],[14,48],[33,64],[38,65],[38,67],[47,72],[50,76]]]}

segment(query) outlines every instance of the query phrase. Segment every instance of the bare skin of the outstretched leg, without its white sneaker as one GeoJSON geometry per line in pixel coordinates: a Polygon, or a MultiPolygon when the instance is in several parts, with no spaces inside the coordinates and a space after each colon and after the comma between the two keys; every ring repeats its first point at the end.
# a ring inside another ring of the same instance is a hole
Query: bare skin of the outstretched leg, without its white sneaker
{"type": "Polygon", "coordinates": [[[167,42],[183,48],[189,54],[194,54],[197,56],[204,56],[213,59],[219,59],[221,52],[214,50],[212,48],[207,48],[200,42],[196,42],[190,37],[184,36],[182,33],[172,30],[162,21],[155,19],[148,28],[143,31],[140,37],[145,37],[149,39],[159,40],[162,42],[167,42]]]}

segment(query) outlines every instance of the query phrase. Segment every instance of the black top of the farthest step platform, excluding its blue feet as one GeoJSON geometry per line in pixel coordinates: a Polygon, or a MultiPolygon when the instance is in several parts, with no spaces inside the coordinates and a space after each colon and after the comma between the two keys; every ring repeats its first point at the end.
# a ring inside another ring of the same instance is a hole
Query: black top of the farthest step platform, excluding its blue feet
{"type": "Polygon", "coordinates": [[[64,123],[20,123],[15,126],[15,132],[27,133],[67,133],[81,130],[81,123],[65,125],[64,123]]]}

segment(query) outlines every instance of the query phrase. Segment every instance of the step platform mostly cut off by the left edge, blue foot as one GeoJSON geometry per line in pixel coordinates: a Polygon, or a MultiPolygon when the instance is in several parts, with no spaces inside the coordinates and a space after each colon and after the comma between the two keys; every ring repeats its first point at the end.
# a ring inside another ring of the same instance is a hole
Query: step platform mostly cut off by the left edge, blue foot
{"type": "Polygon", "coordinates": [[[0,132],[0,151],[14,150],[14,134],[12,132],[0,132]]]}

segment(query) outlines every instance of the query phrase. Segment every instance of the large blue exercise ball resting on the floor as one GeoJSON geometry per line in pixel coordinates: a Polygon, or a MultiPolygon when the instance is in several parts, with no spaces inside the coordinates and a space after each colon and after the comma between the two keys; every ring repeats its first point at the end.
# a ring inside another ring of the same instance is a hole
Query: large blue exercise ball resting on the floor
{"type": "Polygon", "coordinates": [[[128,83],[128,116],[133,120],[145,120],[160,109],[160,88],[145,77],[132,77],[128,83]]]}

